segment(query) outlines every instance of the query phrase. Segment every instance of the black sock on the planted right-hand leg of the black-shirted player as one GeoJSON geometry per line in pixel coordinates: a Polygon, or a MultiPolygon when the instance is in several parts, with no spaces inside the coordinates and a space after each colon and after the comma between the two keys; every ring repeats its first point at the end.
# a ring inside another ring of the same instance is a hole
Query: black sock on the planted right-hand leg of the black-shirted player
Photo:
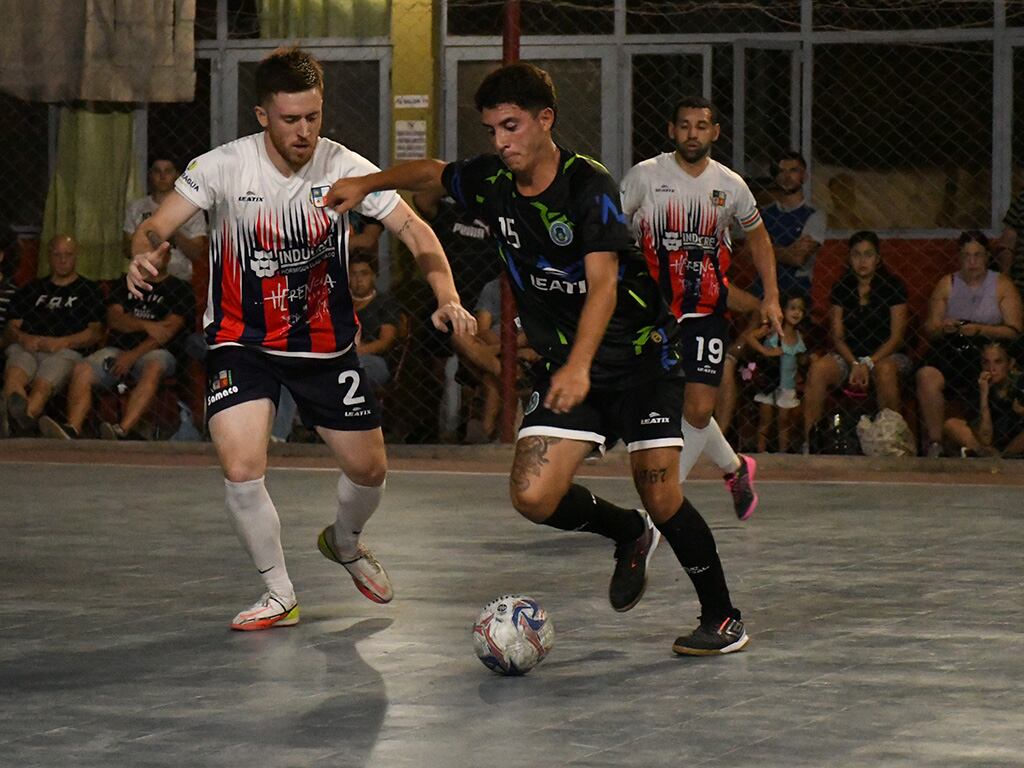
{"type": "Polygon", "coordinates": [[[689,499],[683,500],[671,518],[657,524],[662,536],[676,553],[679,564],[693,582],[700,600],[700,614],[705,621],[716,622],[726,616],[739,616],[729,599],[722,561],[718,557],[715,537],[711,528],[693,508],[689,499]]]}

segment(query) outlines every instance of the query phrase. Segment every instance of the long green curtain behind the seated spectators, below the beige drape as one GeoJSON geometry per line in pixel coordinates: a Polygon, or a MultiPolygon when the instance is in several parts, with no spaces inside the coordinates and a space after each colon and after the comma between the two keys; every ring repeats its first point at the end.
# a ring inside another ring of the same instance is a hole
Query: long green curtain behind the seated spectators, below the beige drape
{"type": "Polygon", "coordinates": [[[61,108],[56,171],[46,195],[39,274],[54,234],[78,241],[78,271],[114,280],[125,271],[125,202],[141,197],[128,108],[61,108]]]}

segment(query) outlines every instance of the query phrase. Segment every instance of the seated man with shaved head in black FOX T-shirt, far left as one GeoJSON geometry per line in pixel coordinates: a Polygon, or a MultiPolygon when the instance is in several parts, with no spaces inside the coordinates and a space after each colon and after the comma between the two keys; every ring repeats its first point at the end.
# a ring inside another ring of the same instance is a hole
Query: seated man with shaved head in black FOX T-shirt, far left
{"type": "Polygon", "coordinates": [[[75,270],[78,244],[58,234],[48,246],[50,273],[22,288],[7,319],[3,394],[11,433],[36,433],[47,401],[63,389],[82,351],[102,339],[99,286],[75,270]]]}

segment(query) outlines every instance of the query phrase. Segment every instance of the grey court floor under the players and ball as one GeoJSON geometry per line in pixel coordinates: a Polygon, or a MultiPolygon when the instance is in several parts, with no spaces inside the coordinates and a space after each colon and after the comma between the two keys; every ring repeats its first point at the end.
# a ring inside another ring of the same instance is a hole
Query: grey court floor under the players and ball
{"type": "Polygon", "coordinates": [[[668,547],[615,613],[611,546],[521,520],[500,474],[391,474],[375,605],[316,552],[333,485],[269,472],[302,622],[232,633],[261,589],[215,469],[0,464],[0,765],[1024,765],[1019,486],[762,482],[739,523],[692,483],[753,636],[698,659],[668,547]],[[507,592],[557,629],[519,679],[470,641],[507,592]]]}

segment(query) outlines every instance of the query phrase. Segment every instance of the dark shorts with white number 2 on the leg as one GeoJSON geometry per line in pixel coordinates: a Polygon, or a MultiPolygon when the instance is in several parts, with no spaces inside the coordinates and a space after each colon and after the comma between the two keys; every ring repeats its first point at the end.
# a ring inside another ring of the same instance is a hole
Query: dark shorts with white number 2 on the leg
{"type": "Polygon", "coordinates": [[[284,386],[309,429],[347,432],[381,425],[377,398],[354,349],[337,357],[286,357],[252,347],[218,347],[206,356],[206,379],[207,421],[250,400],[269,398],[276,408],[284,386]]]}

